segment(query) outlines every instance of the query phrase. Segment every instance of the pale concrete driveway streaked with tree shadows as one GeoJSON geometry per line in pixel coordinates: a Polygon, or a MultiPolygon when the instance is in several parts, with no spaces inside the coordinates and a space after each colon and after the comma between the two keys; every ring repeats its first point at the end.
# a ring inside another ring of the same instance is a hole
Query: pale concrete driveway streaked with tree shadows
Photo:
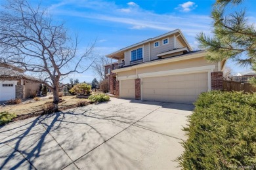
{"type": "Polygon", "coordinates": [[[175,169],[193,105],[111,98],[0,127],[0,169],[175,169]]]}

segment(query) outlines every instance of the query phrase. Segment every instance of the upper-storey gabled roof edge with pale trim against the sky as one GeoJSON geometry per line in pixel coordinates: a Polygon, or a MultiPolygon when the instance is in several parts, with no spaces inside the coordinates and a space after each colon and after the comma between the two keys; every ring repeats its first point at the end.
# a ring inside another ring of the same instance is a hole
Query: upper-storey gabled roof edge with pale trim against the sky
{"type": "Polygon", "coordinates": [[[112,52],[111,54],[106,55],[106,57],[110,57],[110,56],[112,56],[112,55],[114,55],[114,54],[117,54],[117,53],[119,53],[119,52],[123,52],[123,51],[128,50],[128,49],[130,49],[130,48],[133,48],[133,47],[135,47],[135,46],[139,46],[139,45],[145,44],[145,43],[147,43],[147,42],[156,41],[156,40],[158,40],[158,39],[161,39],[161,38],[166,37],[166,36],[169,36],[169,35],[173,35],[173,34],[175,34],[175,33],[179,33],[179,35],[181,35],[182,39],[184,40],[184,42],[185,42],[186,45],[188,46],[188,49],[189,49],[190,51],[192,51],[192,48],[191,48],[191,46],[188,44],[188,41],[186,41],[184,35],[183,35],[182,32],[181,32],[181,29],[175,29],[175,30],[170,31],[170,32],[168,32],[168,33],[165,33],[165,34],[163,34],[163,35],[159,35],[158,37],[150,38],[150,39],[147,39],[147,40],[145,40],[145,41],[141,41],[141,42],[138,42],[138,43],[136,43],[136,44],[133,44],[133,45],[131,45],[131,46],[127,46],[127,47],[125,47],[125,48],[121,48],[120,50],[118,50],[118,51],[116,51],[116,52],[112,52]]]}

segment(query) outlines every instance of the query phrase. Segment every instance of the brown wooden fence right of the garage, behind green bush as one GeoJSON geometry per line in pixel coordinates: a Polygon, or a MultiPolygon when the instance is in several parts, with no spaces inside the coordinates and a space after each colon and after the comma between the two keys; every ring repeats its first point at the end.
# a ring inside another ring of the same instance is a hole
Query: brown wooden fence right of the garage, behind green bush
{"type": "Polygon", "coordinates": [[[247,93],[255,93],[256,87],[249,83],[234,82],[231,80],[223,80],[223,89],[225,91],[244,91],[247,93]]]}

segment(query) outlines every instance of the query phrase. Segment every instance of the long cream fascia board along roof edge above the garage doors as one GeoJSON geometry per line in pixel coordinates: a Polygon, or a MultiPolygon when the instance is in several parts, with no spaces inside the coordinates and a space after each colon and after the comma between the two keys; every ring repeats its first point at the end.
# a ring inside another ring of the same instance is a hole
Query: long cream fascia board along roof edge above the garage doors
{"type": "Polygon", "coordinates": [[[186,60],[186,59],[201,58],[201,57],[205,56],[205,53],[206,52],[202,52],[200,54],[187,54],[186,56],[180,56],[177,58],[173,57],[173,58],[168,58],[168,59],[161,59],[160,61],[141,63],[139,65],[133,65],[133,66],[127,67],[127,68],[113,70],[112,73],[118,73],[121,71],[129,71],[129,70],[136,69],[136,68],[148,67],[148,66],[152,66],[152,65],[159,65],[159,64],[163,64],[163,63],[171,63],[174,61],[182,61],[182,60],[186,60]]]}

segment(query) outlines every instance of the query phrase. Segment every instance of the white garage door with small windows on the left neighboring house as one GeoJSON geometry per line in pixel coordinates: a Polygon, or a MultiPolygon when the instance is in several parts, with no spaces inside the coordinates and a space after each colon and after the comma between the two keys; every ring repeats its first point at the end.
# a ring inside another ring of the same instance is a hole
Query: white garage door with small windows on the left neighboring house
{"type": "Polygon", "coordinates": [[[0,82],[0,101],[15,99],[15,85],[16,81],[0,82]]]}

